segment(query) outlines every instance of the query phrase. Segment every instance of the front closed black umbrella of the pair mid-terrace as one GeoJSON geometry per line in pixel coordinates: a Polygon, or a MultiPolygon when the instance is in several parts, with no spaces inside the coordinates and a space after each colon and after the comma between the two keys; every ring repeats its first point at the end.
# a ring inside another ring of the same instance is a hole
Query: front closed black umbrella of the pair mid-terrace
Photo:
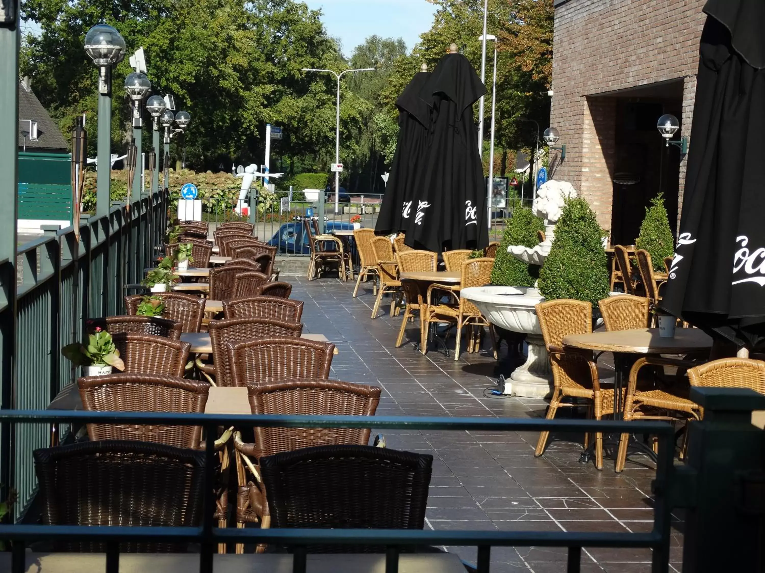
{"type": "Polygon", "coordinates": [[[466,57],[439,60],[420,98],[431,109],[430,140],[418,162],[405,244],[441,252],[487,246],[486,186],[473,104],[486,88],[466,57]]]}

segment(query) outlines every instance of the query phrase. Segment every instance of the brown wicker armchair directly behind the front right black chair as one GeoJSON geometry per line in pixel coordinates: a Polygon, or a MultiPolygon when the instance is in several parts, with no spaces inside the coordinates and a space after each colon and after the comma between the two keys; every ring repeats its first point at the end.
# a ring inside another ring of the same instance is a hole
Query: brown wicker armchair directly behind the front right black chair
{"type": "MultiPolygon", "coordinates": [[[[339,380],[285,380],[247,387],[253,414],[294,416],[374,416],[380,389],[339,380]]],[[[254,429],[255,443],[243,442],[234,434],[236,474],[236,524],[269,526],[270,513],[265,487],[258,469],[260,458],[318,445],[369,442],[369,428],[264,428],[254,429]]],[[[239,550],[241,546],[237,546],[239,550]]]]}

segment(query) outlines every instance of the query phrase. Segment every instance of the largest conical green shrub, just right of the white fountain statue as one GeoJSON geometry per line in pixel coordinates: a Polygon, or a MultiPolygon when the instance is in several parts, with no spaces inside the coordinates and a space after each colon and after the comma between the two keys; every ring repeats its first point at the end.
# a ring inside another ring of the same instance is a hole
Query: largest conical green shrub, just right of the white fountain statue
{"type": "Polygon", "coordinates": [[[547,300],[585,300],[597,308],[608,296],[608,267],[602,233],[583,197],[567,199],[555,225],[555,241],[539,271],[539,290],[547,300]]]}

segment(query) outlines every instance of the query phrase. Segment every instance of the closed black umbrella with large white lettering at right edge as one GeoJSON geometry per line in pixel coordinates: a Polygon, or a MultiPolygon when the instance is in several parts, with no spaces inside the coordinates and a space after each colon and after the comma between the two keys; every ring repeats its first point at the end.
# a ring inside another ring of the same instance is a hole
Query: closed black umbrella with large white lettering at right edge
{"type": "Polygon", "coordinates": [[[709,0],[680,235],[661,307],[738,347],[765,339],[765,2],[709,0]]]}

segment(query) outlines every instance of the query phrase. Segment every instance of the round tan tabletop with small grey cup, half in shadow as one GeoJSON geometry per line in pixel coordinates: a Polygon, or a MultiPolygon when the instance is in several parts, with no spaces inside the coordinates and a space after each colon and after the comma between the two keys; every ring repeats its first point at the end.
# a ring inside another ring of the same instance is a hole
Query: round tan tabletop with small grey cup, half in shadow
{"type": "Polygon", "coordinates": [[[712,339],[699,329],[676,329],[675,338],[662,338],[659,329],[636,329],[569,335],[563,345],[625,354],[686,354],[711,348],[712,339]]]}

